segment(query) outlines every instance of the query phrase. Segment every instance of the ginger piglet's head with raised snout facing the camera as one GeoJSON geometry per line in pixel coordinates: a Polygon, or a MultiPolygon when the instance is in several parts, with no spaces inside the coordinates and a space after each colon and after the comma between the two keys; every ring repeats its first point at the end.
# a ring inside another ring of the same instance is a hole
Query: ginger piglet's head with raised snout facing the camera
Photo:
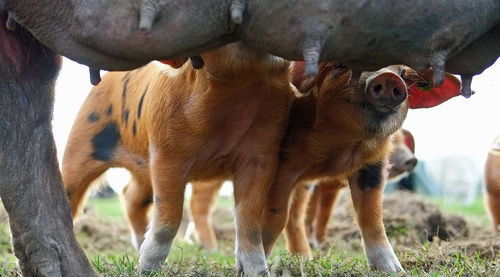
{"type": "Polygon", "coordinates": [[[311,93],[321,122],[367,138],[384,138],[401,127],[408,111],[407,87],[401,78],[404,67],[356,76],[345,66],[330,62],[321,64],[314,77],[300,74],[301,68],[300,63],[292,65],[292,83],[299,91],[311,93]]]}

